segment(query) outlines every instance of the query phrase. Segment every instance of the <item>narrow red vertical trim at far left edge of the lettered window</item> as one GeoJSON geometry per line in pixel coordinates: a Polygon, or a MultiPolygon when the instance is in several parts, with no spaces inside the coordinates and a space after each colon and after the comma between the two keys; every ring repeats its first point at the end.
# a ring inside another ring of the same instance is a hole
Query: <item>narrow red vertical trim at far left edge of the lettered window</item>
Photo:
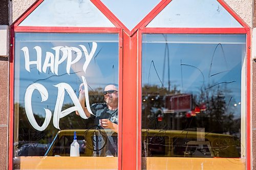
{"type": "Polygon", "coordinates": [[[10,58],[9,58],[9,151],[8,169],[13,167],[13,118],[14,118],[14,28],[10,29],[10,58]]]}

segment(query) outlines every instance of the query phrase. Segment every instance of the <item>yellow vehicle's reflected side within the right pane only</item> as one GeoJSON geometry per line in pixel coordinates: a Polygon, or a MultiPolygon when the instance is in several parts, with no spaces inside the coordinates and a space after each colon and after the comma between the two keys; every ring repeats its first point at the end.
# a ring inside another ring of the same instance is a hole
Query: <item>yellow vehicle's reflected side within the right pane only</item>
{"type": "Polygon", "coordinates": [[[143,156],[152,157],[240,157],[240,141],[225,134],[142,130],[143,156]]]}

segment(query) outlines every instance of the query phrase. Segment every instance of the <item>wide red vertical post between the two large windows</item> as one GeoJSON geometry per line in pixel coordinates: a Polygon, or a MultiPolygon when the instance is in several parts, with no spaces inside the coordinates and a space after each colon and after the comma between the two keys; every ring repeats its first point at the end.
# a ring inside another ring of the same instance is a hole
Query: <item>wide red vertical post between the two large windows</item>
{"type": "Polygon", "coordinates": [[[123,33],[122,170],[137,169],[137,43],[123,33]]]}

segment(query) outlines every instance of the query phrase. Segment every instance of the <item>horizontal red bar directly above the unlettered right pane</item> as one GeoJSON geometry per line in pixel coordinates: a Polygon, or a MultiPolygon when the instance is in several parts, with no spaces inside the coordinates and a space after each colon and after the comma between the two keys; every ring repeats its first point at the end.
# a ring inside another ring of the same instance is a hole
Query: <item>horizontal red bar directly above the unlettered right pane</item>
{"type": "Polygon", "coordinates": [[[245,28],[143,28],[142,33],[155,34],[246,34],[245,28]]]}

